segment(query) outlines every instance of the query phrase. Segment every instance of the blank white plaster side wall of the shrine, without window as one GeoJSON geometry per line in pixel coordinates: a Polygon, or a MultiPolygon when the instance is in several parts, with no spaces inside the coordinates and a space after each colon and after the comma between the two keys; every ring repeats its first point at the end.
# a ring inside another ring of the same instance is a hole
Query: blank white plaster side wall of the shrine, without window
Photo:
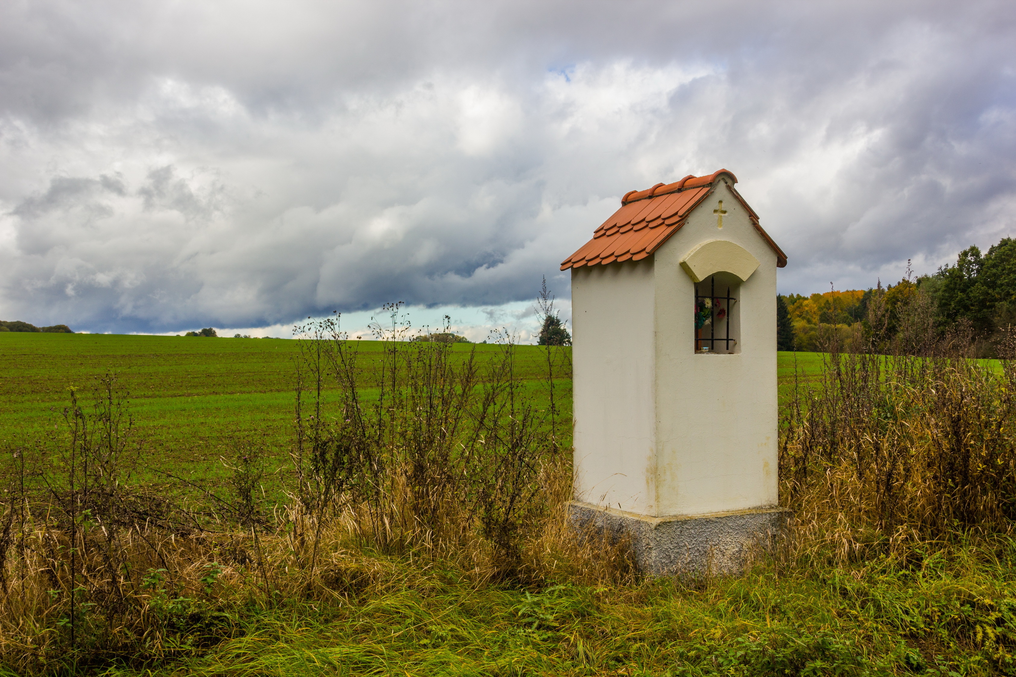
{"type": "Polygon", "coordinates": [[[652,257],[572,269],[575,497],[642,514],[657,512],[654,284],[652,257]]]}

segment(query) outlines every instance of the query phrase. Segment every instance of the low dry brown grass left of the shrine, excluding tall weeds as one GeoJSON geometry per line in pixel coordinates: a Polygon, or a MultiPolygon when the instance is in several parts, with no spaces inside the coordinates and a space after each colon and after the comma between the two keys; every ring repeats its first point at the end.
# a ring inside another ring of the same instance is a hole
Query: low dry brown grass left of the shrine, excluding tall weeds
{"type": "MultiPolygon", "coordinates": [[[[633,581],[623,544],[576,539],[565,524],[570,470],[560,460],[549,463],[536,481],[548,509],[527,525],[521,567],[513,567],[516,576],[524,571],[524,580],[516,580],[532,590],[548,580],[633,581]]],[[[505,581],[498,548],[481,532],[470,534],[462,513],[445,516],[461,520],[454,544],[429,541],[425,533],[403,535],[403,564],[396,565],[375,556],[384,548],[366,536],[368,510],[343,509],[320,529],[305,522],[315,534],[312,544],[295,529],[293,508],[253,530],[237,522],[215,529],[196,511],[123,489],[113,512],[81,501],[71,530],[65,505],[54,504],[52,496],[26,498],[23,521],[18,512],[10,518],[5,506],[10,551],[0,594],[0,660],[24,674],[69,661],[85,670],[190,656],[235,636],[245,613],[412,588],[407,573],[426,577],[437,562],[460,571],[469,587],[505,581]],[[407,567],[406,560],[417,565],[407,567]]],[[[414,497],[404,492],[390,500],[407,511],[414,497]]],[[[391,540],[387,545],[390,552],[391,540]]]]}

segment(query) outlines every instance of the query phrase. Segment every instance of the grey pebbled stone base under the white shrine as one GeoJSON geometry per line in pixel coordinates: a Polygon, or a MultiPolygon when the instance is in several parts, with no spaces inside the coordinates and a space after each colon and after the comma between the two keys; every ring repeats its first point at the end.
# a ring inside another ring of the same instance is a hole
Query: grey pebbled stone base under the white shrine
{"type": "Polygon", "coordinates": [[[769,550],[782,534],[789,510],[763,508],[710,514],[647,517],[571,501],[573,528],[612,541],[631,538],[639,568],[649,575],[738,573],[755,552],[769,550]]]}

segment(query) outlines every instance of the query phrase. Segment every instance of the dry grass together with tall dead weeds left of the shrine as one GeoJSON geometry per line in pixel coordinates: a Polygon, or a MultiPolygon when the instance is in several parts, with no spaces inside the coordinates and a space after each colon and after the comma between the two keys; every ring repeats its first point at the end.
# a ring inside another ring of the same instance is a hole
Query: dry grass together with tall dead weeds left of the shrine
{"type": "MultiPolygon", "coordinates": [[[[256,610],[404,587],[391,556],[421,575],[451,565],[472,587],[632,580],[625,544],[565,524],[561,422],[553,398],[538,409],[520,387],[511,341],[496,360],[453,361],[449,345],[400,341],[394,310],[370,394],[337,323],[306,327],[284,504],[265,502],[266,453],[249,434],[204,500],[174,499],[190,482],[172,474],[128,486],[133,430],[115,378],[91,408],[72,392],[64,428],[6,469],[0,663],[27,674],[191,656],[256,610]]],[[[563,352],[547,351],[553,382],[563,352]]]]}

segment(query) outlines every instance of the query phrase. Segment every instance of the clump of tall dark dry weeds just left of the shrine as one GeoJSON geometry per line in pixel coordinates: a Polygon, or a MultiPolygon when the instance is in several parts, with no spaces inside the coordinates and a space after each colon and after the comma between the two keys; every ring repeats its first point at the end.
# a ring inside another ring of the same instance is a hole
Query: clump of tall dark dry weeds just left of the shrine
{"type": "Polygon", "coordinates": [[[475,346],[405,341],[399,306],[386,310],[369,373],[337,318],[301,327],[299,546],[313,566],[320,531],[342,516],[385,551],[447,554],[481,538],[497,575],[524,575],[523,543],[548,509],[539,476],[557,439],[553,396],[541,408],[525,388],[506,333],[481,361],[475,346]]]}

